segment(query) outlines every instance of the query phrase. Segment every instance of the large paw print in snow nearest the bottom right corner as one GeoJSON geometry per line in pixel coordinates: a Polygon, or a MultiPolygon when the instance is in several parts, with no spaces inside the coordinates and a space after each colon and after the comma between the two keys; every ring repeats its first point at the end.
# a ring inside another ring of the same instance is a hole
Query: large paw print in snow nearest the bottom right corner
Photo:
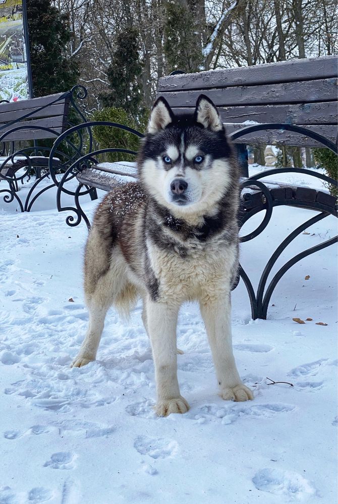
{"type": "Polygon", "coordinates": [[[260,469],[252,482],[257,490],[282,495],[288,500],[305,500],[316,492],[301,474],[281,469],[260,469]]]}

